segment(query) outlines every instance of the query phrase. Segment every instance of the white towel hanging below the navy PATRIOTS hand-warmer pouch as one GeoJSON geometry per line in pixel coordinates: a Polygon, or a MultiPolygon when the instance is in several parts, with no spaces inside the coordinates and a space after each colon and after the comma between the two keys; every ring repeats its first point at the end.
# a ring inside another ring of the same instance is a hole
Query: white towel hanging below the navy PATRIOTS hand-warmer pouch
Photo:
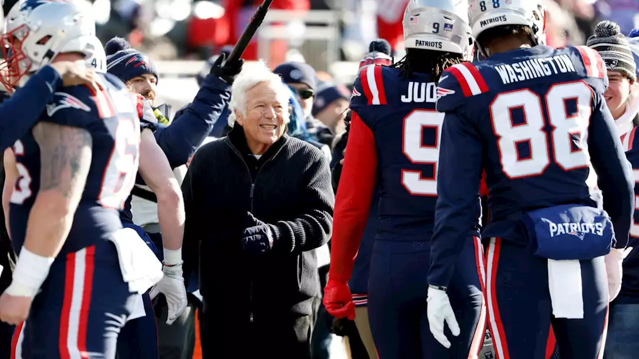
{"type": "Polygon", "coordinates": [[[583,319],[581,263],[548,259],[548,289],[557,318],[583,319]]]}

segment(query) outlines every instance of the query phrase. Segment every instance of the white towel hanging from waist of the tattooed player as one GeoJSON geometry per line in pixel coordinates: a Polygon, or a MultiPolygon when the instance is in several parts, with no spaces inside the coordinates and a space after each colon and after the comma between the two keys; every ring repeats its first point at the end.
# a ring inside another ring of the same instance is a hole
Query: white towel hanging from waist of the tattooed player
{"type": "Polygon", "coordinates": [[[122,277],[131,293],[142,294],[162,279],[162,263],[134,229],[120,229],[110,240],[118,250],[122,277]]]}

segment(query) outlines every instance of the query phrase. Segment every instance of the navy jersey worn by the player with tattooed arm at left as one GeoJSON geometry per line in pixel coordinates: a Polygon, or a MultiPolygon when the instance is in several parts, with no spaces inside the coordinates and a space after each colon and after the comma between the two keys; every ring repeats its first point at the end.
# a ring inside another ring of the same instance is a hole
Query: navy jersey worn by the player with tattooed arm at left
{"type": "MultiPolygon", "coordinates": [[[[139,118],[124,84],[100,75],[97,93],[84,86],[56,92],[40,121],[84,128],[91,134],[91,167],[72,229],[61,253],[106,240],[122,227],[119,211],[135,181],[140,142],[139,118]]],[[[29,211],[40,188],[40,148],[29,133],[13,145],[19,172],[10,204],[12,243],[24,244],[29,211]]]]}

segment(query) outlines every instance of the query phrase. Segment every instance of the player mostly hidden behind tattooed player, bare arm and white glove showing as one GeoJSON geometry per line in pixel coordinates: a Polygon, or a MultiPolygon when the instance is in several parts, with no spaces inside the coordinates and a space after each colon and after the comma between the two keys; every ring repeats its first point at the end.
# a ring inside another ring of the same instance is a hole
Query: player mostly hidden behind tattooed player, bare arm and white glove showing
{"type": "MultiPolygon", "coordinates": [[[[86,60],[89,67],[96,72],[106,73],[106,56],[100,46],[93,57],[86,60]],[[101,51],[100,51],[101,50],[101,51]]],[[[151,298],[162,293],[166,296],[168,306],[167,324],[179,317],[187,306],[187,293],[182,277],[182,237],[184,233],[184,204],[182,193],[177,179],[171,171],[171,166],[164,155],[162,148],[158,146],[153,131],[157,127],[157,119],[150,103],[142,96],[134,92],[129,86],[137,104],[137,114],[140,119],[141,141],[139,152],[139,174],[144,183],[153,190],[157,199],[160,227],[162,227],[163,244],[163,271],[164,277],[150,293],[142,294],[138,298],[136,311],[128,319],[127,325],[122,329],[122,337],[118,340],[118,357],[127,358],[157,358],[158,337],[157,323],[151,298]],[[136,319],[136,320],[134,320],[136,319]]],[[[125,202],[125,209],[121,211],[120,218],[125,227],[135,229],[141,238],[156,251],[155,244],[149,235],[140,227],[132,223],[131,199],[129,195],[125,202]]]]}

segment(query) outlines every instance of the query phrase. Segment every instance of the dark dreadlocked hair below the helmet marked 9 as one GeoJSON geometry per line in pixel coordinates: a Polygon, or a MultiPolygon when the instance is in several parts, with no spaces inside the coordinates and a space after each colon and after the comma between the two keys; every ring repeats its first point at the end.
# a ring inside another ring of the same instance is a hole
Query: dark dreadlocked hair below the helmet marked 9
{"type": "Polygon", "coordinates": [[[413,72],[430,73],[433,81],[437,81],[444,70],[464,61],[461,54],[424,49],[406,49],[406,56],[392,65],[401,68],[399,75],[403,79],[413,77],[413,72]]]}

